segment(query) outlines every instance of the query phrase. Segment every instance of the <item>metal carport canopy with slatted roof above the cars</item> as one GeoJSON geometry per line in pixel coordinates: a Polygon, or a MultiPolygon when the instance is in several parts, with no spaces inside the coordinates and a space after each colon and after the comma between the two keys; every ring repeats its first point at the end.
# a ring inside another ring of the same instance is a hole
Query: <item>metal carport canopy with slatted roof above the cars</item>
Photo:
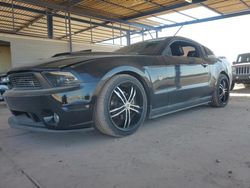
{"type": "Polygon", "coordinates": [[[0,32],[88,43],[126,37],[129,44],[131,34],[246,14],[250,0],[0,0],[0,32]]]}

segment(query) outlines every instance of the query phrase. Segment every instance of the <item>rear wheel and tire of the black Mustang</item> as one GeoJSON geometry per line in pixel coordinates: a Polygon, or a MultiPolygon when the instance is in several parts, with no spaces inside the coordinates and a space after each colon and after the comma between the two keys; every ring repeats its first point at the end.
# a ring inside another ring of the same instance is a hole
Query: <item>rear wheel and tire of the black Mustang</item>
{"type": "Polygon", "coordinates": [[[210,105],[213,107],[225,107],[228,104],[229,96],[229,80],[225,74],[220,74],[210,105]]]}

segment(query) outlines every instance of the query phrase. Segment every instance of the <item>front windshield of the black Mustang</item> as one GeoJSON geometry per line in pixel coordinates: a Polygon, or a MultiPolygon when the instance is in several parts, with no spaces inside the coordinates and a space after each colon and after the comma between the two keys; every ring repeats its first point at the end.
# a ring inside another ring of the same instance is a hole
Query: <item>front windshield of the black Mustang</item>
{"type": "Polygon", "coordinates": [[[160,54],[165,38],[149,40],[125,46],[115,53],[129,54],[129,55],[158,55],[160,54]]]}

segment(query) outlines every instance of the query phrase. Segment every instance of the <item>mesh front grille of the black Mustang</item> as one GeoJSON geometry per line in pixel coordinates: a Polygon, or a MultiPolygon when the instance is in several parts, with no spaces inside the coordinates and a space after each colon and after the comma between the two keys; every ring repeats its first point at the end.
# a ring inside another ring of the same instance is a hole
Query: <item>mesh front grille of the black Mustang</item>
{"type": "Polygon", "coordinates": [[[41,83],[33,73],[12,74],[9,76],[12,88],[39,89],[41,83]]]}

